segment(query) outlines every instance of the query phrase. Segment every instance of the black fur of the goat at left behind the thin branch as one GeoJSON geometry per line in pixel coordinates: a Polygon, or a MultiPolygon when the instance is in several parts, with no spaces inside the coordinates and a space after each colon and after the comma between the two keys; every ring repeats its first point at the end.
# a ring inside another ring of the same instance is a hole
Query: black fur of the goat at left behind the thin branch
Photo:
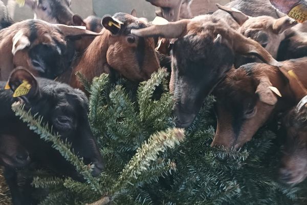
{"type": "MultiPolygon", "coordinates": [[[[56,81],[37,78],[39,94],[33,97],[23,97],[26,103],[25,109],[31,108],[31,113],[39,113],[43,121],[53,126],[53,131],[58,132],[63,140],[68,140],[79,157],[83,157],[84,163],[94,163],[93,174],[97,175],[102,169],[102,159],[98,151],[96,140],[87,119],[87,98],[83,92],[73,89],[68,85],[56,81]]],[[[40,139],[39,136],[29,130],[27,125],[15,116],[11,110],[13,101],[12,91],[4,90],[5,82],[0,82],[0,135],[10,134],[18,138],[20,143],[28,150],[31,161],[57,173],[59,176],[66,175],[76,180],[82,180],[79,173],[70,162],[66,161],[58,151],[52,148],[50,143],[40,139]]],[[[32,88],[33,89],[33,88],[32,88]]],[[[29,94],[28,94],[29,95],[29,94]]],[[[19,99],[20,100],[20,99],[19,99]]],[[[14,189],[15,176],[6,175],[11,189],[14,189]],[[10,181],[11,180],[11,181],[10,181]]],[[[16,193],[16,190],[12,190],[16,193]]],[[[13,200],[22,193],[17,192],[13,200]]],[[[24,196],[26,197],[27,196],[24,196]]],[[[21,197],[21,203],[27,201],[21,197]]],[[[18,204],[18,203],[16,203],[18,204]]]]}

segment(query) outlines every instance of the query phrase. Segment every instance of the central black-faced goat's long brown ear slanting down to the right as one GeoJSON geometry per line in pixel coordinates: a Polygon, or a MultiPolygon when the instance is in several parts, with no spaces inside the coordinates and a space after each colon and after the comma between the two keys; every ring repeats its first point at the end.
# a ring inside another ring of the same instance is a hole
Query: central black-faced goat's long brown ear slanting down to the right
{"type": "Polygon", "coordinates": [[[247,38],[236,31],[233,34],[233,50],[236,53],[241,55],[256,55],[266,64],[271,66],[282,66],[281,63],[275,60],[272,55],[255,40],[247,38]]]}

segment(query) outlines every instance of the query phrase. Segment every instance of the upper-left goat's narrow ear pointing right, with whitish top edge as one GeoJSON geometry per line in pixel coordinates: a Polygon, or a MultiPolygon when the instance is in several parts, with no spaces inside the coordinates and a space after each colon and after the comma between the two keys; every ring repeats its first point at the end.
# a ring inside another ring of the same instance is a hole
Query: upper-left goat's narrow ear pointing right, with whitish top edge
{"type": "Polygon", "coordinates": [[[80,36],[97,36],[101,35],[93,31],[86,30],[85,27],[66,26],[62,24],[55,24],[61,30],[65,37],[80,37],[80,36]]]}

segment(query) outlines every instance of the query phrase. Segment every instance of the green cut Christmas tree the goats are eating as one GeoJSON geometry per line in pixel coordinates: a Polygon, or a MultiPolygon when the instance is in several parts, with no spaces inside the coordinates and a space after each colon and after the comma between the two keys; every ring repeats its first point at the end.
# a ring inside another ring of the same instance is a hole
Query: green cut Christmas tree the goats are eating
{"type": "Polygon", "coordinates": [[[278,182],[281,148],[267,128],[239,151],[210,147],[214,97],[207,98],[189,129],[174,128],[167,75],[161,69],[133,85],[123,79],[111,84],[102,74],[90,85],[78,74],[91,94],[89,119],[105,162],[96,178],[40,117],[12,106],[85,179],[35,177],[33,186],[49,190],[40,204],[306,204],[305,183],[278,182]]]}

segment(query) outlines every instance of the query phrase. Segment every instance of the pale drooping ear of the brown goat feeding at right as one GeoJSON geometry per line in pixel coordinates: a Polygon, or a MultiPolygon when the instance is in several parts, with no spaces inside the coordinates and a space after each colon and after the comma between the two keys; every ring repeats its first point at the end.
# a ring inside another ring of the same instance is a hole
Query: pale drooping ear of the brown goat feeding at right
{"type": "Polygon", "coordinates": [[[258,94],[259,99],[262,103],[268,104],[270,106],[274,106],[277,103],[276,95],[281,96],[278,89],[272,87],[272,84],[269,79],[264,78],[260,79],[256,94],[258,94]]]}

